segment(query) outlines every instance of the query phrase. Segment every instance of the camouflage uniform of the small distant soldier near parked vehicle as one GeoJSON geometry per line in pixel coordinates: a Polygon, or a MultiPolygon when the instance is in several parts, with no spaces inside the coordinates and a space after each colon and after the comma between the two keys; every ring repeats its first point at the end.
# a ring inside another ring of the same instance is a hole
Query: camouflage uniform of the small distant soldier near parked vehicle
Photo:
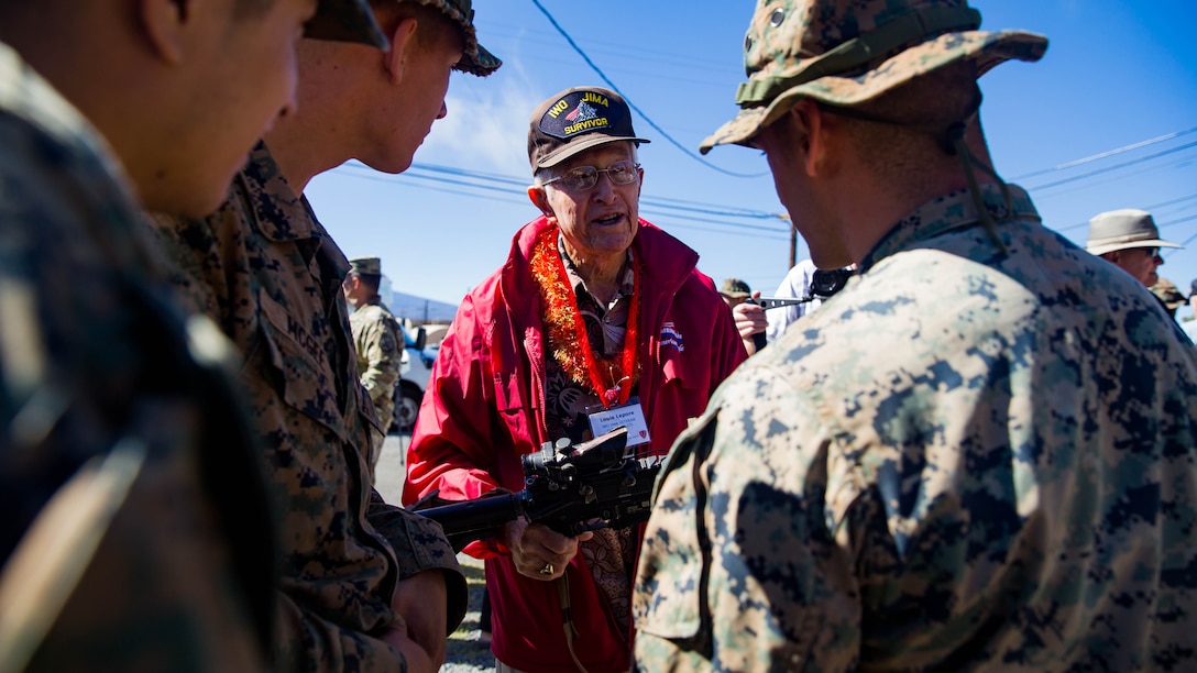
{"type": "Polygon", "coordinates": [[[382,428],[373,439],[366,465],[370,473],[378,463],[382,441],[395,418],[395,384],[399,383],[400,358],[403,356],[402,331],[382,299],[375,297],[350,314],[353,344],[358,352],[358,376],[361,387],[373,401],[378,425],[382,428]]]}

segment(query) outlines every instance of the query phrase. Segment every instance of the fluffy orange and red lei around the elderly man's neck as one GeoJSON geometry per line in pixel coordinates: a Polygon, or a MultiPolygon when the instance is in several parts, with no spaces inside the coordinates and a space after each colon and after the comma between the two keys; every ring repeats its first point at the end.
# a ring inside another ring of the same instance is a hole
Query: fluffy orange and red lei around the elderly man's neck
{"type": "Polygon", "coordinates": [[[555,226],[540,232],[529,260],[531,277],[540,287],[541,319],[548,332],[548,348],[570,380],[578,386],[589,386],[598,395],[598,401],[604,408],[610,408],[616,401],[619,405],[625,405],[639,378],[636,362],[639,268],[633,266],[632,304],[628,308],[622,352],[610,358],[595,357],[585,321],[578,310],[578,299],[573,296],[565,265],[557,250],[557,232],[555,226]],[[609,387],[603,383],[603,371],[609,375],[609,387]]]}

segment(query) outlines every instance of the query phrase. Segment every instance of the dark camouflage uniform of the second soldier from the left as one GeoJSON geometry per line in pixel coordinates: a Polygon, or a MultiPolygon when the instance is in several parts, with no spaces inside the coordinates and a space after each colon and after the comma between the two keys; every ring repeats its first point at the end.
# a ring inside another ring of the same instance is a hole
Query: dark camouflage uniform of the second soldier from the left
{"type": "Polygon", "coordinates": [[[261,144],[213,216],[157,224],[182,293],[245,353],[241,383],[285,513],[280,665],[401,669],[367,635],[396,618],[395,583],[446,570],[452,631],[464,576],[439,525],[385,504],[365,477],[377,419],[341,295],[348,261],[261,144]]]}

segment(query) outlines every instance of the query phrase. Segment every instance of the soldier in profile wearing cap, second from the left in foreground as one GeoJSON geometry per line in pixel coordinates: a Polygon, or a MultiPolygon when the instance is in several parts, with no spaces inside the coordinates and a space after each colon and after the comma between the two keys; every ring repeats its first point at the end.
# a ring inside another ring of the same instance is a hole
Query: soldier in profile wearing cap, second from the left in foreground
{"type": "Polygon", "coordinates": [[[282,668],[435,671],[466,612],[440,527],[372,489],[378,419],[341,293],[350,263],[303,192],[350,159],[406,170],[446,113],[450,73],[499,61],[478,44],[469,0],[371,5],[389,49],[303,41],[297,110],[250,152],[225,204],[156,222],[178,290],[244,353],[241,384],[284,509],[282,668]]]}

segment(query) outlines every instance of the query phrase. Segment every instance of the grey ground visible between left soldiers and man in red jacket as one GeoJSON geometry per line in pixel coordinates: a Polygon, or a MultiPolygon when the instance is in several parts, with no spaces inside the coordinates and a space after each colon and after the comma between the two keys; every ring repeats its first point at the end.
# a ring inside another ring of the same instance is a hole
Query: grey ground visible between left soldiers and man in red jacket
{"type": "MultiPolygon", "coordinates": [[[[378,457],[378,466],[375,468],[377,484],[375,487],[389,503],[399,503],[403,491],[405,461],[407,445],[411,435],[390,435],[383,444],[382,455],[378,457]]],[[[455,633],[449,636],[448,654],[445,665],[440,669],[444,673],[481,673],[494,671],[494,656],[491,654],[488,644],[478,642],[478,617],[479,606],[482,604],[482,592],[485,580],[482,578],[482,562],[473,559],[466,554],[457,557],[466,570],[466,580],[469,582],[469,608],[466,620],[455,633]]]]}

